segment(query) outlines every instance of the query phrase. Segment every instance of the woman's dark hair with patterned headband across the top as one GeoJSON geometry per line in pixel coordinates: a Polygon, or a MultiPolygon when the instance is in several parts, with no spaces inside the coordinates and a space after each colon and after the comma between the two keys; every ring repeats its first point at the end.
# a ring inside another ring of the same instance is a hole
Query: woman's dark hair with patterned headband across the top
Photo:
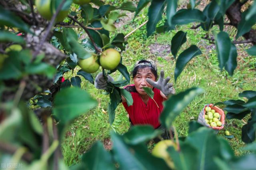
{"type": "Polygon", "coordinates": [[[131,77],[134,78],[135,75],[137,74],[138,70],[144,69],[146,67],[150,68],[150,71],[154,74],[154,76],[157,79],[158,75],[157,75],[156,65],[153,65],[153,63],[151,63],[150,61],[145,60],[145,59],[142,59],[142,60],[140,60],[139,62],[137,62],[135,64],[134,69],[133,69],[133,71],[131,73],[131,77]],[[143,65],[143,63],[145,63],[145,65],[143,65]],[[148,63],[148,64],[146,64],[146,63],[148,63]]]}

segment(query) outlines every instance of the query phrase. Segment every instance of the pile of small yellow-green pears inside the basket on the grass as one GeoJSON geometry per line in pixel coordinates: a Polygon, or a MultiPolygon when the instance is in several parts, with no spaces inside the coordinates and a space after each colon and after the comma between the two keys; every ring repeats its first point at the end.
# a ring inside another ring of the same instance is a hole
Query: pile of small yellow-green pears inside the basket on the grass
{"type": "Polygon", "coordinates": [[[222,123],[220,121],[220,114],[210,107],[205,107],[206,114],[204,115],[204,120],[210,127],[221,127],[222,123]]]}

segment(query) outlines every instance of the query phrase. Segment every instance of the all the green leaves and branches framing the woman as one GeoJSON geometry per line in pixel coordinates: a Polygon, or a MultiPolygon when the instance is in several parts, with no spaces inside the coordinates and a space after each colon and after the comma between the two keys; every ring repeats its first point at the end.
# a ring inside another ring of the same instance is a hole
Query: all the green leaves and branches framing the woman
{"type": "MultiPolygon", "coordinates": [[[[190,0],[187,9],[178,11],[176,11],[178,0],[140,0],[137,8],[132,2],[113,6],[104,4],[100,0],[92,0],[90,2],[92,4],[81,6],[72,4],[70,7],[72,0],[67,0],[64,4],[62,0],[48,1],[51,9],[47,10],[50,12],[56,12],[61,5],[63,6],[60,8],[60,13],[70,12],[70,16],[63,22],[57,23],[54,17],[47,21],[46,19],[49,18],[40,16],[39,6],[33,6],[34,1],[6,2],[0,2],[0,144],[10,147],[1,147],[0,159],[6,162],[14,160],[19,162],[23,159],[26,161],[24,162],[26,169],[68,169],[62,160],[58,160],[60,141],[65,136],[66,128],[71,121],[97,105],[96,100],[80,88],[82,80],[78,76],[84,77],[93,84],[94,74],[79,69],[78,61],[92,55],[99,56],[102,50],[110,47],[120,51],[125,50],[127,42],[124,34],[110,33],[116,30],[114,25],[116,20],[125,16],[120,12],[122,10],[135,11],[135,18],[150,4],[147,36],[154,34],[155,30],[165,32],[174,30],[176,26],[194,22],[200,23],[199,26],[210,33],[217,24],[219,30],[217,32],[214,30],[216,32],[214,34],[220,69],[224,67],[232,76],[237,67],[236,46],[228,33],[223,31],[225,13],[237,2],[235,0],[212,0],[202,11],[196,9],[195,0],[190,0]],[[70,28],[65,28],[66,26],[70,28]],[[79,28],[72,28],[77,26],[79,28]],[[82,38],[80,34],[82,29],[88,38],[82,38]],[[49,43],[51,38],[52,44],[49,43]],[[15,47],[19,49],[11,48],[11,45],[16,45],[15,47]],[[67,72],[72,72],[71,76],[62,82],[60,78],[67,72]],[[52,85],[49,85],[49,82],[52,85]],[[41,84],[45,87],[42,88],[41,84]],[[36,90],[32,90],[32,87],[36,90]],[[45,89],[48,90],[44,91],[45,89]],[[38,91],[40,93],[36,95],[38,91]],[[30,100],[33,103],[30,103],[30,109],[23,103],[23,99],[27,99],[23,98],[24,93],[30,97],[34,96],[30,100]],[[6,96],[10,100],[6,100],[6,96]],[[3,154],[2,150],[4,150],[3,154]],[[14,155],[11,155],[13,153],[14,155]]],[[[255,8],[254,2],[250,8],[242,12],[241,20],[233,24],[237,26],[236,38],[248,34],[254,26],[255,8]]],[[[187,40],[186,34],[178,31],[172,38],[171,52],[174,59],[187,40]]],[[[208,37],[209,35],[206,34],[206,38],[208,37]]],[[[250,55],[255,55],[254,47],[247,51],[250,55]]],[[[196,45],[191,45],[180,53],[176,59],[175,81],[185,65],[200,54],[202,52],[196,45]]],[[[131,94],[125,89],[120,89],[130,83],[126,66],[120,62],[109,73],[115,71],[119,71],[125,80],[108,82],[106,91],[110,97],[108,105],[110,125],[114,122],[115,110],[121,102],[121,95],[126,99],[128,106],[133,104],[131,94]]],[[[106,78],[104,69],[103,73],[106,78]]],[[[153,99],[152,89],[144,90],[153,99]]],[[[160,117],[162,125],[169,129],[180,112],[202,92],[202,89],[194,87],[170,97],[164,103],[164,111],[160,117]]],[[[243,119],[250,114],[247,124],[242,127],[242,140],[252,143],[256,137],[256,91],[244,91],[239,97],[246,97],[248,100],[230,99],[216,105],[226,106],[224,110],[228,112],[227,119],[243,119]]],[[[161,133],[162,131],[154,130],[150,126],[135,126],[123,135],[112,133],[113,148],[110,152],[104,150],[101,142],[96,142],[82,156],[81,164],[70,169],[84,167],[115,169],[115,164],[121,169],[169,169],[164,160],[148,152],[145,144],[161,133]]],[[[254,153],[241,157],[234,156],[226,140],[216,136],[213,130],[194,122],[190,123],[188,136],[176,137],[175,140],[178,147],[169,147],[167,152],[177,169],[253,169],[255,167],[254,153]]],[[[252,143],[250,147],[253,146],[252,143]]],[[[250,147],[248,146],[247,149],[254,151],[250,147]]]]}

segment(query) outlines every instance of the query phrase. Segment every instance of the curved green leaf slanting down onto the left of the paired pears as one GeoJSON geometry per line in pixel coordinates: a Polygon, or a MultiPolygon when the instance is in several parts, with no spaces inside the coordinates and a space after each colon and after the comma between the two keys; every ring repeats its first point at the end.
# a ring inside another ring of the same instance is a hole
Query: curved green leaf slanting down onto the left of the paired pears
{"type": "Polygon", "coordinates": [[[87,58],[92,56],[92,54],[89,51],[84,49],[84,47],[82,47],[82,45],[80,43],[78,43],[77,40],[75,40],[73,38],[72,34],[69,31],[67,32],[67,40],[68,40],[68,43],[71,47],[71,50],[74,53],[76,53],[76,55],[80,59],[87,59],[87,58]]]}

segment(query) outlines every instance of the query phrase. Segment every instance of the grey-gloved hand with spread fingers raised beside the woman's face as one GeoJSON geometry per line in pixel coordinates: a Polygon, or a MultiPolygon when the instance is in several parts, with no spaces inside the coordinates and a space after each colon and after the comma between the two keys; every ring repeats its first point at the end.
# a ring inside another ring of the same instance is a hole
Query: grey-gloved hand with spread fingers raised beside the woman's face
{"type": "Polygon", "coordinates": [[[156,89],[159,89],[160,91],[162,91],[162,93],[164,93],[164,95],[168,96],[170,94],[174,95],[175,94],[175,90],[172,87],[173,83],[168,83],[168,81],[170,81],[170,77],[166,77],[166,79],[164,79],[164,70],[161,70],[160,72],[160,77],[158,79],[158,81],[153,81],[151,79],[146,79],[146,81],[156,87],[156,89]]]}

